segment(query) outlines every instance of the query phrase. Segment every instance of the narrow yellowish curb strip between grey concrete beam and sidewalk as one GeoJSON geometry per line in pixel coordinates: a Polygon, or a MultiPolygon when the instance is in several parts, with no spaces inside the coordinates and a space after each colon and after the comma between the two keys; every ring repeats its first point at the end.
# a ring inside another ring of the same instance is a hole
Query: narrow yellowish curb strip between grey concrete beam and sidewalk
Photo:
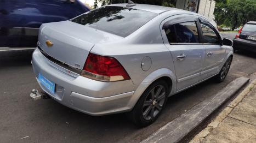
{"type": "Polygon", "coordinates": [[[243,98],[246,97],[251,91],[256,88],[256,79],[249,84],[232,102],[226,106],[226,108],[220,112],[220,114],[214,118],[214,120],[207,125],[200,133],[198,133],[194,138],[190,141],[190,143],[202,142],[206,136],[211,133],[213,128],[217,128],[219,123],[222,122],[232,110],[238,105],[238,103],[242,102],[243,98]]]}

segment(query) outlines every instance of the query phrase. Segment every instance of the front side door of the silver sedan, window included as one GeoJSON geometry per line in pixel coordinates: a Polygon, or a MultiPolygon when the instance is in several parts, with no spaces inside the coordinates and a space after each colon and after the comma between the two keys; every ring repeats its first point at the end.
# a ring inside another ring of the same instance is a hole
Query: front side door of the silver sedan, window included
{"type": "Polygon", "coordinates": [[[206,48],[206,58],[201,73],[202,79],[207,79],[218,74],[225,56],[225,48],[222,47],[221,37],[217,29],[206,19],[199,19],[202,43],[206,48]]]}

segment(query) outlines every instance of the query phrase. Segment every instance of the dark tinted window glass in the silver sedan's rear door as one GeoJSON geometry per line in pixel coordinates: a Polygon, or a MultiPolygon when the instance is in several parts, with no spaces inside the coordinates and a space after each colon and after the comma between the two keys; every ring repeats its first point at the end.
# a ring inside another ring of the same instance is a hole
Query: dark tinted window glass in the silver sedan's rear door
{"type": "Polygon", "coordinates": [[[184,22],[164,28],[169,43],[199,43],[196,22],[184,22]]]}

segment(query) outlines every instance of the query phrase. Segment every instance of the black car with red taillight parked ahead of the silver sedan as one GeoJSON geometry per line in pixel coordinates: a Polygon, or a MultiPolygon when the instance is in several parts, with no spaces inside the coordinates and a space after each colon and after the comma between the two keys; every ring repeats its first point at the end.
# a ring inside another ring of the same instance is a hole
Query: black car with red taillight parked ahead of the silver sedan
{"type": "Polygon", "coordinates": [[[256,21],[247,22],[236,34],[234,51],[248,50],[256,51],[256,21]]]}

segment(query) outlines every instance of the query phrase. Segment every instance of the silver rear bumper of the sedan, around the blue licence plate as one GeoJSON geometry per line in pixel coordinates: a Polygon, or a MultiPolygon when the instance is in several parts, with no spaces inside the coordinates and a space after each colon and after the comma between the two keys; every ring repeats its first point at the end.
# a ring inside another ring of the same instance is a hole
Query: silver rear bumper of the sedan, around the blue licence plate
{"type": "Polygon", "coordinates": [[[69,108],[94,116],[125,112],[132,109],[129,106],[134,93],[134,85],[131,80],[101,82],[82,76],[74,78],[55,68],[55,63],[45,58],[38,49],[33,52],[32,64],[37,82],[42,90],[54,100],[69,108]],[[39,82],[39,73],[55,83],[54,93],[39,82]]]}

